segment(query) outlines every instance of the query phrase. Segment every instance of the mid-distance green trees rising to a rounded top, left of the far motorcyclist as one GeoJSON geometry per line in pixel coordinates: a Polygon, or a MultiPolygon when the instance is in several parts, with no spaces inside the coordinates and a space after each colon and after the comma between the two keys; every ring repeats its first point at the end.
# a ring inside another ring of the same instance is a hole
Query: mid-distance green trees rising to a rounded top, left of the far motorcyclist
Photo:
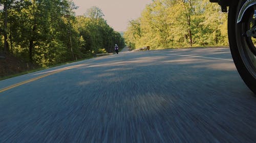
{"type": "Polygon", "coordinates": [[[124,39],[120,33],[115,32],[106,20],[103,19],[103,13],[97,7],[92,7],[84,16],[78,16],[75,25],[79,33],[80,48],[84,53],[95,52],[102,53],[114,52],[114,45],[124,47],[124,39]]]}

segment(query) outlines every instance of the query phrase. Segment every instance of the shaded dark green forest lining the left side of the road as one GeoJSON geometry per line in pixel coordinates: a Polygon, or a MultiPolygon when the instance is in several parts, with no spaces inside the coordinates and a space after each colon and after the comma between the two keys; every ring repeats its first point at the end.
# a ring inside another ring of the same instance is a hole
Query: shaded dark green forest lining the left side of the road
{"type": "Polygon", "coordinates": [[[0,7],[0,53],[40,67],[124,47],[97,7],[83,16],[70,0],[1,0],[0,7]]]}

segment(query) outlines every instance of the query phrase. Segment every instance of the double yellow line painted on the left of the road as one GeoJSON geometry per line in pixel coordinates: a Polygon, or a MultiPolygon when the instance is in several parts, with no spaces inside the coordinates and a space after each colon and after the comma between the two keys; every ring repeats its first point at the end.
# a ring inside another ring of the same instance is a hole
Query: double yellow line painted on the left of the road
{"type": "Polygon", "coordinates": [[[26,80],[26,81],[23,81],[23,82],[19,82],[19,83],[16,83],[16,84],[13,84],[7,88],[4,88],[4,89],[1,89],[0,90],[0,93],[4,92],[4,91],[7,91],[7,90],[10,90],[10,89],[13,89],[13,88],[16,88],[20,85],[23,85],[23,84],[26,84],[26,83],[29,83],[29,82],[32,82],[32,81],[35,81],[37,79],[40,79],[40,78],[43,78],[43,77],[46,77],[46,76],[49,76],[49,75],[52,75],[52,74],[55,74],[55,73],[58,73],[58,72],[61,72],[65,69],[61,69],[61,70],[57,70],[57,71],[53,71],[51,73],[48,73],[48,74],[45,74],[45,75],[41,75],[41,76],[38,76],[38,77],[35,77],[35,78],[32,78],[32,79],[29,79],[29,80],[26,80]]]}

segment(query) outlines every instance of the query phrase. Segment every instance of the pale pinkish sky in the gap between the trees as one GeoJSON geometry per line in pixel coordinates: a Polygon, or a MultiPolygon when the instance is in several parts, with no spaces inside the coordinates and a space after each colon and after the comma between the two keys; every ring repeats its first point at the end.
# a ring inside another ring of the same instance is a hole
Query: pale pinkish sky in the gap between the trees
{"type": "Polygon", "coordinates": [[[96,6],[105,15],[103,18],[115,31],[126,31],[129,20],[140,17],[141,12],[152,0],[73,0],[79,8],[76,15],[83,15],[87,9],[96,6]]]}

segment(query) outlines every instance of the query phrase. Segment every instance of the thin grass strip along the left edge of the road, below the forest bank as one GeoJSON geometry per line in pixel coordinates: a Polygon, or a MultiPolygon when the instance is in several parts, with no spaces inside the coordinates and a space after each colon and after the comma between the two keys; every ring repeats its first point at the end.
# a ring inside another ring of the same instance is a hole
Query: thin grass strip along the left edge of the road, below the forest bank
{"type": "Polygon", "coordinates": [[[80,59],[80,60],[77,60],[77,61],[70,61],[70,62],[60,63],[60,64],[48,66],[48,67],[41,67],[41,68],[37,68],[37,69],[33,69],[33,70],[28,70],[28,71],[12,74],[12,75],[7,75],[7,76],[0,77],[0,81],[8,79],[8,78],[16,77],[16,76],[20,76],[20,75],[24,75],[24,74],[28,74],[28,73],[33,73],[33,72],[37,72],[37,71],[41,71],[41,70],[46,70],[46,69],[58,67],[58,66],[61,66],[61,65],[67,65],[67,64],[71,64],[71,63],[75,63],[75,62],[79,62],[79,61],[83,61],[83,60],[88,60],[88,59],[92,59],[92,58],[93,57],[80,59]]]}

